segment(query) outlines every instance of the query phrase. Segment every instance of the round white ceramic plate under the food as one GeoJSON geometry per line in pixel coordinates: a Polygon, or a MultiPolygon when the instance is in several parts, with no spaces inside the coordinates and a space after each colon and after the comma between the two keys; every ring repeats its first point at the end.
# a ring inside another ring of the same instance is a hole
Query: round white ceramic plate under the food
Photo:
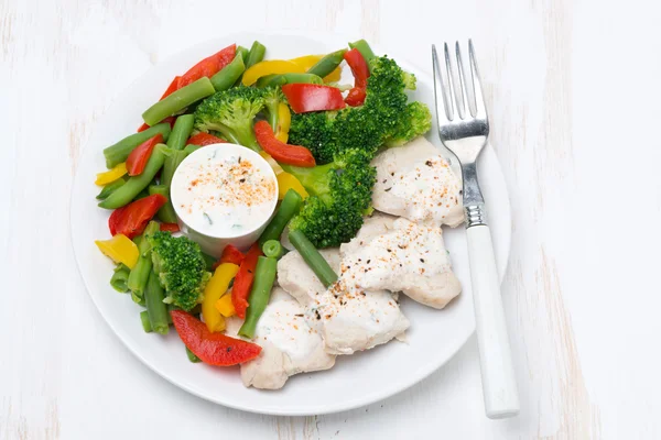
{"type": "MultiPolygon", "coordinates": [[[[154,372],[199,397],[228,407],[273,415],[313,415],[368,405],[401,392],[445,364],[475,330],[470,276],[463,228],[446,229],[445,242],[463,294],[445,310],[425,308],[404,298],[402,309],[411,321],[408,343],[391,342],[353,356],[339,356],[333,370],[290,378],[283,389],[264,392],[246,388],[238,367],[213,367],[188,362],[176,332],[163,338],[144,333],[140,307],[129,295],[108,284],[111,262],[98,251],[95,240],[108,239],[108,211],[96,206],[99,188],[96,173],[105,169],[101,150],[136,131],[141,113],[163,92],[172,78],[201,58],[231,43],[250,45],[253,40],[268,47],[268,58],[321,54],[346,46],[337,35],[235,34],[199,44],[152,68],[117,99],[97,125],[83,153],[72,194],[72,237],[78,267],[101,316],[119,339],[154,372]]],[[[386,53],[373,47],[377,54],[386,53]]],[[[390,54],[390,52],[388,52],[390,54]]],[[[433,108],[433,82],[404,58],[394,59],[418,77],[412,98],[433,108]]],[[[348,68],[347,68],[348,70],[348,68]]],[[[440,145],[436,128],[429,139],[440,145]]],[[[510,210],[507,187],[498,160],[489,146],[479,162],[480,182],[489,204],[491,232],[499,271],[505,273],[510,243],[510,210]]]]}

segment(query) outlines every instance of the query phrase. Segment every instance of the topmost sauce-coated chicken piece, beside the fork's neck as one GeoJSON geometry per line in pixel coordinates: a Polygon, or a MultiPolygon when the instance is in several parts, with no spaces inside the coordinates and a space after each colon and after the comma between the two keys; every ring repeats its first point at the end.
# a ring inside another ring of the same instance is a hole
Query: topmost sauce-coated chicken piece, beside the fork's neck
{"type": "Polygon", "coordinates": [[[377,167],[375,209],[433,226],[454,228],[464,220],[462,182],[424,136],[386,150],[371,164],[377,167]]]}

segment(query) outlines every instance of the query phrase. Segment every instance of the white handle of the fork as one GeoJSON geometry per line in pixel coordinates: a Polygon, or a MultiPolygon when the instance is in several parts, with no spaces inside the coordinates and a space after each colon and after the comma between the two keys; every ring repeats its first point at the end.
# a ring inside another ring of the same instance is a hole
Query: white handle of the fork
{"type": "Polygon", "coordinates": [[[488,226],[480,224],[468,228],[466,234],[485,410],[491,419],[516,416],[519,396],[491,232],[488,226]]]}

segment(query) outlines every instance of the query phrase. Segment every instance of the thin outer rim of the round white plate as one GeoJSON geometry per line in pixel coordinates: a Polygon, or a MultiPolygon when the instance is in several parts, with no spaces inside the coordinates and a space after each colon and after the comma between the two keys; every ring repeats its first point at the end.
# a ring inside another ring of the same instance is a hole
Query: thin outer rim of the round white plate
{"type": "MultiPolygon", "coordinates": [[[[121,101],[122,97],[124,95],[128,95],[128,92],[141,80],[143,80],[143,78],[145,76],[149,76],[150,74],[152,74],[155,70],[159,70],[160,68],[163,67],[163,65],[165,63],[167,63],[170,59],[172,58],[177,58],[181,57],[183,54],[185,54],[186,52],[189,52],[192,50],[195,50],[197,47],[201,46],[205,46],[207,44],[210,44],[214,41],[219,41],[219,40],[225,40],[225,38],[230,38],[230,37],[236,37],[236,38],[241,38],[245,37],[246,35],[261,35],[264,38],[268,38],[269,36],[301,36],[301,37],[305,37],[308,40],[315,40],[315,41],[319,41],[319,40],[330,40],[330,41],[335,41],[335,40],[344,40],[344,41],[351,41],[351,38],[343,33],[336,33],[336,32],[319,32],[319,31],[311,31],[311,32],[302,32],[302,31],[245,31],[245,32],[231,32],[231,33],[227,33],[227,34],[223,34],[223,35],[218,35],[216,37],[213,38],[206,38],[203,41],[198,41],[195,44],[192,44],[181,51],[177,51],[176,53],[173,53],[171,55],[169,55],[167,57],[165,57],[164,59],[160,61],[158,64],[151,66],[149,69],[147,69],[142,75],[140,75],[138,78],[136,78],[134,80],[132,80],[129,85],[127,85],[123,90],[118,94],[112,101],[108,105],[108,107],[104,110],[104,114],[108,113],[108,111],[115,106],[115,103],[117,101],[121,101]]],[[[252,36],[251,36],[252,37],[252,36]]],[[[237,40],[238,41],[238,40],[237,40]]],[[[380,44],[372,44],[372,47],[376,47],[377,50],[381,48],[380,44]]],[[[394,59],[399,61],[401,59],[402,63],[401,64],[405,64],[409,70],[414,70],[415,75],[418,78],[424,78],[425,82],[429,84],[433,84],[433,78],[430,74],[427,74],[426,72],[422,70],[421,68],[419,68],[415,64],[409,62],[405,57],[400,57],[398,56],[398,53],[393,53],[393,52],[382,52],[381,53],[387,53],[389,54],[389,56],[391,56],[394,59]]],[[[100,121],[100,119],[99,119],[100,121]]],[[[83,156],[85,154],[91,154],[90,153],[90,148],[89,148],[89,144],[90,141],[94,140],[95,133],[98,132],[98,124],[100,122],[96,122],[94,124],[94,128],[90,132],[90,135],[85,144],[85,147],[80,151],[80,156],[79,156],[79,161],[78,163],[82,164],[84,161],[82,161],[83,156]]],[[[437,133],[433,133],[432,135],[436,135],[437,133]]],[[[501,270],[499,271],[499,280],[502,284],[505,274],[507,273],[507,268],[508,268],[508,264],[509,264],[509,257],[510,257],[510,251],[511,251],[511,204],[510,204],[510,197],[509,197],[509,189],[507,187],[507,180],[505,179],[505,174],[502,173],[502,167],[500,165],[500,161],[498,160],[498,156],[496,155],[495,148],[492,147],[491,143],[488,142],[486,147],[485,147],[485,152],[489,151],[489,154],[492,155],[492,160],[495,161],[495,165],[497,165],[498,168],[498,174],[499,174],[499,178],[503,182],[503,187],[505,187],[505,196],[506,196],[506,200],[507,200],[507,206],[500,206],[498,209],[499,211],[506,211],[506,215],[508,217],[508,240],[506,243],[506,249],[503,251],[505,254],[505,262],[500,262],[501,265],[501,270]]],[[[483,154],[480,154],[480,157],[483,156],[483,154]]],[[[478,160],[479,161],[479,160],[478,160]]],[[[248,405],[243,405],[240,403],[234,403],[231,402],[231,399],[223,399],[223,398],[217,398],[215,396],[212,395],[205,395],[204,393],[199,392],[198,389],[196,389],[194,386],[191,386],[188,384],[187,381],[182,382],[181,380],[177,380],[175,377],[172,377],[170,374],[167,374],[166,372],[164,372],[163,370],[159,369],[158,365],[152,365],[152,363],[150,363],[140,352],[139,348],[137,345],[133,345],[130,341],[129,338],[127,338],[126,336],[123,336],[123,331],[121,329],[119,329],[118,327],[116,327],[113,324],[113,322],[109,319],[109,317],[107,316],[107,312],[104,311],[104,308],[99,306],[99,302],[97,301],[97,298],[95,295],[91,294],[93,288],[90,287],[87,277],[85,276],[80,263],[79,263],[79,258],[80,256],[78,255],[77,251],[76,251],[76,245],[74,242],[74,222],[73,222],[73,215],[74,215],[74,199],[75,199],[75,194],[76,194],[76,188],[78,188],[79,185],[79,179],[82,178],[80,175],[83,173],[80,172],[79,167],[76,167],[76,173],[72,183],[72,189],[69,193],[69,242],[73,249],[73,253],[74,253],[74,260],[76,262],[76,267],[78,268],[78,274],[80,276],[80,278],[83,279],[83,284],[85,286],[85,289],[87,290],[88,296],[91,298],[93,304],[95,305],[97,311],[99,312],[99,315],[104,318],[104,320],[106,321],[106,323],[108,324],[108,327],[112,330],[112,332],[115,333],[115,336],[121,341],[121,343],[138,359],[140,360],[140,362],[142,364],[144,364],[147,367],[149,367],[151,371],[153,371],[154,373],[156,373],[159,376],[163,377],[165,381],[170,382],[172,385],[196,396],[199,397],[202,399],[205,399],[207,402],[212,402],[214,404],[217,405],[223,405],[225,407],[228,408],[234,408],[234,409],[238,409],[238,410],[242,410],[242,411],[247,411],[247,413],[253,413],[253,414],[263,414],[263,415],[271,415],[271,416],[311,416],[311,415],[325,415],[325,414],[334,414],[334,413],[339,413],[339,411],[345,411],[345,410],[351,410],[351,409],[356,409],[359,407],[364,407],[366,405],[370,405],[373,404],[376,402],[380,402],[386,398],[392,397],[414,385],[416,385],[418,383],[422,382],[423,380],[427,378],[432,373],[434,373],[435,371],[440,370],[441,367],[443,367],[451,359],[453,359],[454,356],[456,356],[456,354],[458,353],[458,351],[466,344],[466,342],[468,341],[468,339],[473,336],[473,333],[475,332],[475,319],[474,319],[474,315],[470,315],[470,317],[473,319],[470,319],[470,322],[466,322],[466,329],[465,330],[465,334],[463,338],[455,338],[454,340],[454,344],[451,345],[449,350],[447,350],[448,353],[451,353],[445,361],[443,361],[440,364],[434,364],[429,363],[424,366],[422,366],[421,369],[419,369],[418,371],[415,371],[415,374],[411,374],[409,375],[409,377],[413,377],[411,380],[402,380],[397,382],[394,385],[390,386],[390,387],[383,387],[380,389],[377,389],[372,393],[369,394],[364,394],[358,398],[354,398],[350,400],[342,400],[339,403],[333,403],[333,404],[324,404],[323,408],[312,408],[314,410],[306,410],[306,409],[301,409],[301,410],[281,410],[278,407],[269,407],[269,408],[256,408],[256,407],[251,407],[248,405]]],[[[458,227],[460,228],[460,227],[458,227]]],[[[263,391],[258,391],[258,392],[263,392],[263,391]]],[[[272,392],[269,392],[272,393],[272,392]]]]}

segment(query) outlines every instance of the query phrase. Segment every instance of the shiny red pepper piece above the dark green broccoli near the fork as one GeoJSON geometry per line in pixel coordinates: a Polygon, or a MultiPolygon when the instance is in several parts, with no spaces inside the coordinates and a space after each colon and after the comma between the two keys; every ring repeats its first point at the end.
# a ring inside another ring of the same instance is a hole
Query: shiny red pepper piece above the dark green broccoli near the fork
{"type": "Polygon", "coordinates": [[[282,86],[292,110],[296,113],[318,110],[339,110],[346,107],[336,87],[318,84],[286,84],[282,86]]]}

